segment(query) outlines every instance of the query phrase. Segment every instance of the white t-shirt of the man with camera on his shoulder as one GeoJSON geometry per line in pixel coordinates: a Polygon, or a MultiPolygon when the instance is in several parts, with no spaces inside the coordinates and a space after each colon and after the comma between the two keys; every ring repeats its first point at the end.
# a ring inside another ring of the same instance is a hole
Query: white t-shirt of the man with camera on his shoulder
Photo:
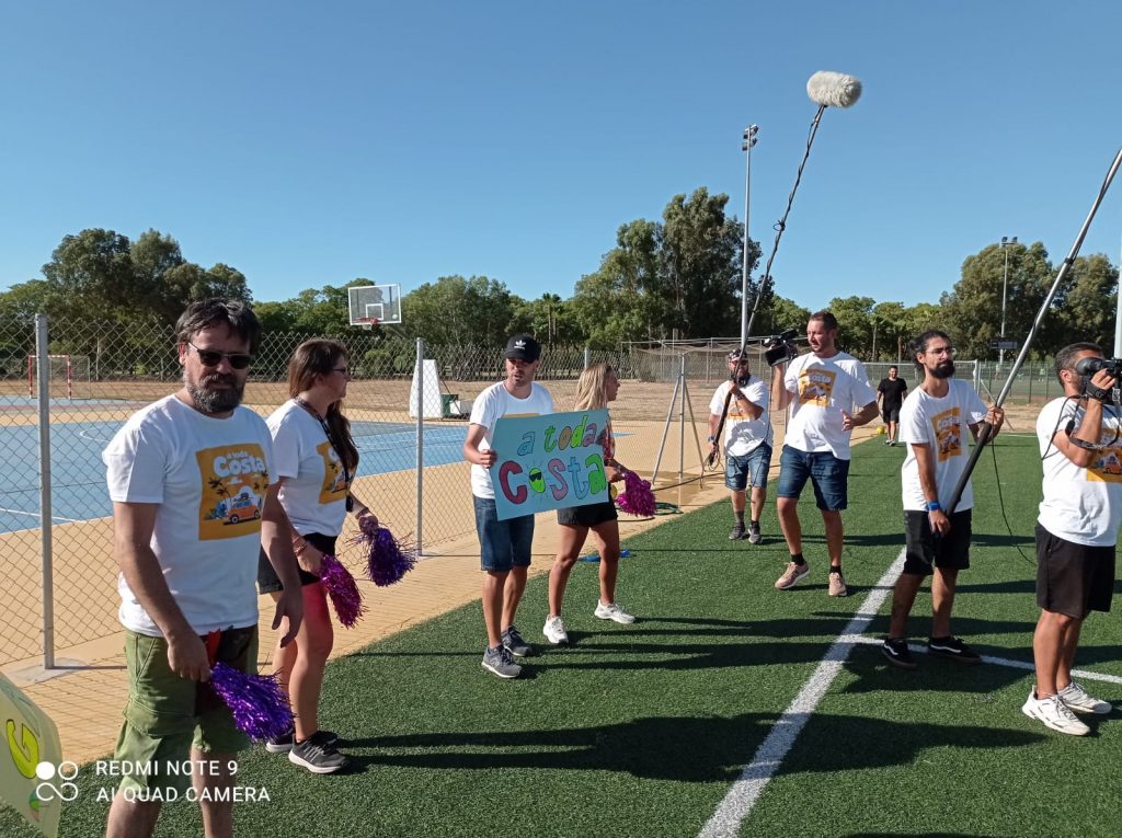
{"type": "Polygon", "coordinates": [[[852,416],[876,402],[865,365],[847,352],[829,358],[808,352],[788,365],[783,386],[795,394],[783,443],[807,453],[829,451],[848,460],[853,431],[842,427],[842,411],[852,416]]]}

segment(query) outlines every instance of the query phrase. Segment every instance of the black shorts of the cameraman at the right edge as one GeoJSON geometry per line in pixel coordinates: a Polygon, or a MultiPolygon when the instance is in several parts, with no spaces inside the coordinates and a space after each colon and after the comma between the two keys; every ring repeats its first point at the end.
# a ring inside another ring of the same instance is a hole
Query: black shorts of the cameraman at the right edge
{"type": "Polygon", "coordinates": [[[1083,619],[1111,610],[1114,546],[1088,547],[1052,535],[1037,524],[1037,605],[1083,619]]]}

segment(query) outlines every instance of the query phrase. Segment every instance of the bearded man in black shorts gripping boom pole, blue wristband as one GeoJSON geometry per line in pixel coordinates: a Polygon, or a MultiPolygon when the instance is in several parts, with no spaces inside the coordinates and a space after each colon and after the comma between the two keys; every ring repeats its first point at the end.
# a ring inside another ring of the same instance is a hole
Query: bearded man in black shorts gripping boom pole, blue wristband
{"type": "Polygon", "coordinates": [[[956,379],[955,349],[946,332],[931,329],[912,344],[920,386],[900,411],[908,457],[900,469],[904,505],[904,569],[892,589],[892,620],[881,653],[893,666],[916,669],[908,648],[908,615],[923,579],[931,577],[931,634],[927,651],[964,664],[982,657],[950,634],[958,571],[971,567],[974,489],[967,480],[954,510],[950,496],[969,461],[966,429],[977,439],[982,421],[1001,430],[1005,414],[988,411],[968,381],[956,379]]]}

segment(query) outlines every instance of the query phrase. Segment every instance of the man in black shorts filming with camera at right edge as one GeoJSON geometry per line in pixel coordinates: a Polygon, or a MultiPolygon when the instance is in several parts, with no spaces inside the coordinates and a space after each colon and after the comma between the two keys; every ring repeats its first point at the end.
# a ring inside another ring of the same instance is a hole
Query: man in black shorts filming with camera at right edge
{"type": "Polygon", "coordinates": [[[1021,707],[1052,730],[1086,736],[1075,713],[1113,707],[1072,680],[1083,620],[1109,611],[1114,551],[1122,523],[1122,423],[1113,405],[1119,362],[1094,343],[1073,343],[1056,356],[1064,397],[1037,418],[1043,498],[1037,518],[1037,604],[1032,635],[1037,683],[1021,707]]]}

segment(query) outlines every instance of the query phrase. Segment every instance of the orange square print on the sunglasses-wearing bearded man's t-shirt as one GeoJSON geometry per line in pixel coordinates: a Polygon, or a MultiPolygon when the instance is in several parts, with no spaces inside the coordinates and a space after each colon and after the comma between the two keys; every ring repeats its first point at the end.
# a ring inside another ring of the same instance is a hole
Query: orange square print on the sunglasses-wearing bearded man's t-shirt
{"type": "Polygon", "coordinates": [[[219,445],[195,453],[202,477],[199,540],[238,538],[261,531],[269,486],[265,452],[256,443],[219,445]]]}

